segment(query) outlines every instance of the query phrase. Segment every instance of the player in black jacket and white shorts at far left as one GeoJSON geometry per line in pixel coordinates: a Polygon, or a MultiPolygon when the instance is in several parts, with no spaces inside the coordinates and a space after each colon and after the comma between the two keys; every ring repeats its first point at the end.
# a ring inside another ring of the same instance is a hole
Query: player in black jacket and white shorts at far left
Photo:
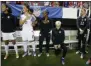
{"type": "Polygon", "coordinates": [[[18,50],[17,50],[17,44],[16,44],[16,22],[15,22],[15,16],[13,16],[11,11],[11,8],[3,3],[2,4],[2,14],[1,14],[1,31],[2,31],[2,37],[3,41],[5,42],[5,52],[6,55],[4,59],[7,59],[9,56],[8,54],[8,44],[9,41],[12,41],[12,44],[14,45],[14,49],[16,52],[16,58],[19,58],[18,50]]]}

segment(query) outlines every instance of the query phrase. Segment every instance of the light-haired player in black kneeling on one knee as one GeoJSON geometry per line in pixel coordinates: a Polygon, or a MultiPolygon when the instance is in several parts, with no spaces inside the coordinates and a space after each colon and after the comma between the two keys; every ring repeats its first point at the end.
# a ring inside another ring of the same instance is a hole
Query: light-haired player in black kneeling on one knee
{"type": "Polygon", "coordinates": [[[65,64],[64,58],[67,53],[67,47],[64,44],[65,40],[65,33],[64,30],[61,28],[61,22],[56,21],[55,22],[55,28],[52,30],[52,41],[54,44],[55,54],[57,53],[58,49],[63,49],[63,55],[62,55],[62,64],[65,64]]]}

